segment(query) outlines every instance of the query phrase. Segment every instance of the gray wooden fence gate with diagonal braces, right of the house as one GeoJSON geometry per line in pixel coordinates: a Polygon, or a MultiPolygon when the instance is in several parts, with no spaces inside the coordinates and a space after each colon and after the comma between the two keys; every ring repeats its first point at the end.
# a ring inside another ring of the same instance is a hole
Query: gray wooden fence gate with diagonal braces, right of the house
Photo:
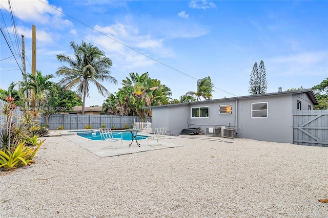
{"type": "Polygon", "coordinates": [[[328,110],[294,112],[293,143],[328,147],[328,110]]]}

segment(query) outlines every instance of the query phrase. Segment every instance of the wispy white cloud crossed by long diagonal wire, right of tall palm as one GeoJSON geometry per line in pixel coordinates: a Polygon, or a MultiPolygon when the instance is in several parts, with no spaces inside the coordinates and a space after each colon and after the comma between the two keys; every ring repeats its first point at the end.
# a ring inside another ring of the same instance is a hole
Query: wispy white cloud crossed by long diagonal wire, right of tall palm
{"type": "Polygon", "coordinates": [[[147,67],[155,62],[142,54],[151,54],[150,56],[154,58],[155,56],[172,56],[172,52],[163,47],[163,39],[153,38],[150,35],[141,35],[138,28],[133,25],[121,23],[107,27],[96,25],[94,29],[111,38],[105,35],[99,36],[99,33],[95,33],[87,35],[86,40],[104,50],[106,55],[115,62],[115,65],[118,64],[126,70],[147,67]]]}

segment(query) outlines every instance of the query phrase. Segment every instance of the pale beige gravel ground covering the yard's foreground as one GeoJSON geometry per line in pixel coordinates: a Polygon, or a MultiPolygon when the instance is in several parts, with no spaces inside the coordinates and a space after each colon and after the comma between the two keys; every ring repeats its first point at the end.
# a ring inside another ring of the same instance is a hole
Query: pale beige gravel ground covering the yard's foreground
{"type": "Polygon", "coordinates": [[[183,146],[100,158],[47,137],[0,172],[0,217],[328,217],[328,147],[166,140],[183,146]]]}

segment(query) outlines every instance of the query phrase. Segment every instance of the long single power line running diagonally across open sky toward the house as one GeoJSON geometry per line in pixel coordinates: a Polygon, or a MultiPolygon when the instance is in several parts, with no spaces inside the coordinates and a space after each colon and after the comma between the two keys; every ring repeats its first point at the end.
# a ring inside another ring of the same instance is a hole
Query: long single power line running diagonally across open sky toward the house
{"type": "MultiPolygon", "coordinates": [[[[188,76],[188,77],[190,77],[190,78],[192,78],[192,79],[198,80],[197,78],[195,78],[195,77],[193,77],[193,76],[190,76],[190,75],[188,75],[188,74],[186,74],[186,73],[183,73],[182,71],[179,71],[179,70],[177,70],[177,69],[175,69],[175,68],[169,66],[169,65],[166,64],[166,63],[163,63],[163,62],[161,62],[161,61],[159,61],[159,60],[156,60],[156,59],[154,59],[154,58],[152,58],[152,57],[150,57],[150,56],[148,56],[148,55],[146,55],[146,54],[144,54],[144,53],[142,53],[142,52],[139,52],[138,50],[136,50],[136,49],[134,49],[134,48],[132,48],[132,47],[126,45],[125,43],[120,42],[120,41],[118,41],[117,39],[115,39],[115,38],[113,38],[113,37],[111,37],[111,36],[109,36],[109,35],[106,35],[106,34],[103,33],[103,32],[100,32],[100,31],[94,29],[93,27],[90,27],[89,25],[83,23],[82,21],[79,21],[78,19],[76,19],[76,18],[74,18],[74,17],[72,17],[72,16],[70,16],[70,15],[64,13],[63,11],[60,11],[60,10],[56,9],[55,7],[52,7],[51,5],[45,3],[45,2],[43,2],[43,1],[41,1],[41,0],[39,0],[39,2],[42,2],[43,4],[45,4],[45,5],[47,5],[47,6],[51,7],[51,8],[53,8],[54,10],[56,10],[56,11],[62,13],[62,14],[65,14],[66,16],[68,16],[68,17],[74,19],[74,20],[77,21],[78,23],[80,23],[80,24],[82,24],[82,25],[84,25],[84,26],[86,26],[86,27],[88,27],[88,28],[90,28],[90,29],[92,29],[92,30],[94,30],[94,31],[96,31],[96,32],[98,32],[98,33],[100,33],[101,35],[104,35],[104,36],[106,36],[106,37],[108,37],[108,38],[110,38],[110,39],[112,39],[112,40],[114,40],[114,41],[120,43],[121,45],[123,45],[123,46],[125,46],[125,47],[127,47],[127,48],[129,48],[129,49],[131,49],[131,50],[133,50],[133,51],[135,51],[135,52],[141,54],[141,55],[144,55],[144,56],[148,57],[149,59],[152,59],[152,60],[154,60],[154,61],[156,61],[156,62],[162,64],[163,66],[166,66],[166,67],[168,67],[168,68],[170,68],[170,69],[172,69],[172,70],[174,70],[174,71],[177,71],[177,72],[179,72],[179,73],[181,73],[181,74],[183,74],[183,75],[186,75],[186,76],[188,76]]],[[[213,83],[212,83],[212,84],[213,84],[213,83]]],[[[216,88],[215,86],[213,86],[213,88],[218,89],[218,90],[220,90],[220,91],[222,91],[222,92],[226,92],[226,93],[228,93],[228,94],[230,94],[230,95],[233,95],[233,96],[238,97],[237,95],[234,95],[234,94],[229,93],[229,92],[227,92],[227,91],[224,91],[224,90],[221,90],[221,89],[219,89],[219,88],[216,88]]]]}

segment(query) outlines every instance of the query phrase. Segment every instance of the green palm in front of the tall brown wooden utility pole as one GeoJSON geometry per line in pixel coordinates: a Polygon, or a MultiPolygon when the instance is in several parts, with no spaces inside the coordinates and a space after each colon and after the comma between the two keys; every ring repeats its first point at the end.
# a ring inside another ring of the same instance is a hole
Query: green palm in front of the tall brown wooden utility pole
{"type": "Polygon", "coordinates": [[[36,75],[27,74],[27,81],[22,82],[24,90],[33,90],[37,103],[37,111],[39,110],[42,99],[44,98],[45,91],[50,90],[52,82],[49,79],[53,78],[52,74],[43,76],[41,71],[36,71],[36,75]]]}

